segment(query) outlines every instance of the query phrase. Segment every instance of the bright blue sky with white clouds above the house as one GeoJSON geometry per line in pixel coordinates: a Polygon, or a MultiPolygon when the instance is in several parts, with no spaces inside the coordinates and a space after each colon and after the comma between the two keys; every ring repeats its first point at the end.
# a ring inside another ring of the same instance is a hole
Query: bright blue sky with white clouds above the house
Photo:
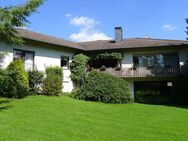
{"type": "MultiPolygon", "coordinates": [[[[0,0],[0,7],[27,0],[0,0]]],[[[45,0],[27,29],[72,41],[151,37],[185,40],[188,0],[45,0]]]]}

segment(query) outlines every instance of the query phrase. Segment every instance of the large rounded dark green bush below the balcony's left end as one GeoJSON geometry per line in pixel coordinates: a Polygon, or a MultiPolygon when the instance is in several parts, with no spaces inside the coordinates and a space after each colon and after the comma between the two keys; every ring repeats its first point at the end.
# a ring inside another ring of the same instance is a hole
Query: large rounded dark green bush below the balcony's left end
{"type": "Polygon", "coordinates": [[[81,88],[81,92],[76,97],[104,103],[132,102],[128,84],[125,80],[94,70],[90,72],[81,88]]]}

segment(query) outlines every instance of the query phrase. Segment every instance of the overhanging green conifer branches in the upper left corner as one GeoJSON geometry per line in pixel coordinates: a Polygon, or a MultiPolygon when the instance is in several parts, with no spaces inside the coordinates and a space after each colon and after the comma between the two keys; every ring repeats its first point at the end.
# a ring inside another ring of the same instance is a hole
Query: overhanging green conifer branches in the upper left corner
{"type": "Polygon", "coordinates": [[[43,3],[43,0],[29,0],[26,4],[14,7],[0,7],[0,38],[10,45],[21,45],[15,27],[24,27],[30,16],[43,3]]]}

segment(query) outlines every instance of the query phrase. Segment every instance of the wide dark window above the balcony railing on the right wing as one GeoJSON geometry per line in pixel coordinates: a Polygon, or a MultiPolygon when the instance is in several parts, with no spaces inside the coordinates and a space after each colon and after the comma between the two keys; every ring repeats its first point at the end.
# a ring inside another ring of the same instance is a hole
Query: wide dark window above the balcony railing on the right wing
{"type": "Polygon", "coordinates": [[[135,55],[133,62],[136,68],[177,68],[179,66],[177,54],[135,55]]]}

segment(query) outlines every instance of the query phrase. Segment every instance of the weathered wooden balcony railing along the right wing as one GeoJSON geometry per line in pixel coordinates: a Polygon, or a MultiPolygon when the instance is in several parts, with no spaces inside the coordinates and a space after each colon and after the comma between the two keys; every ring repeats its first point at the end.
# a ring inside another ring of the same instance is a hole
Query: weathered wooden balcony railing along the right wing
{"type": "MultiPolygon", "coordinates": [[[[97,69],[100,71],[99,69],[97,69]]],[[[176,76],[179,74],[178,68],[122,68],[115,70],[113,68],[106,68],[104,72],[117,77],[155,77],[155,76],[176,76]]]]}

